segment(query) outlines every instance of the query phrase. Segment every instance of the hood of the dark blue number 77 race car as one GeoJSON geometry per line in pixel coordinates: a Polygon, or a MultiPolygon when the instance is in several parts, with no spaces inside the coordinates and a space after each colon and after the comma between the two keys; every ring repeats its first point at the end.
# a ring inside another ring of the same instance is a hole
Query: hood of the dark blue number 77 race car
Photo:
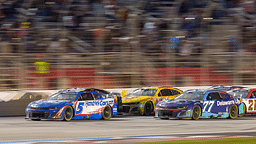
{"type": "Polygon", "coordinates": [[[162,108],[175,108],[175,107],[183,107],[188,106],[189,104],[193,103],[195,101],[189,101],[189,100],[168,100],[159,103],[157,106],[162,108]]]}

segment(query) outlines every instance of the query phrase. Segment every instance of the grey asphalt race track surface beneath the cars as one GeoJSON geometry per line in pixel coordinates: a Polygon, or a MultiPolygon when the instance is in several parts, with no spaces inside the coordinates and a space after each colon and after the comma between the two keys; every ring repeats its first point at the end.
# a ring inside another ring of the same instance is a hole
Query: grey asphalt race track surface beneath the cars
{"type": "Polygon", "coordinates": [[[256,136],[256,116],[237,119],[161,120],[117,115],[110,120],[31,121],[0,117],[0,143],[105,143],[196,137],[256,136]]]}

